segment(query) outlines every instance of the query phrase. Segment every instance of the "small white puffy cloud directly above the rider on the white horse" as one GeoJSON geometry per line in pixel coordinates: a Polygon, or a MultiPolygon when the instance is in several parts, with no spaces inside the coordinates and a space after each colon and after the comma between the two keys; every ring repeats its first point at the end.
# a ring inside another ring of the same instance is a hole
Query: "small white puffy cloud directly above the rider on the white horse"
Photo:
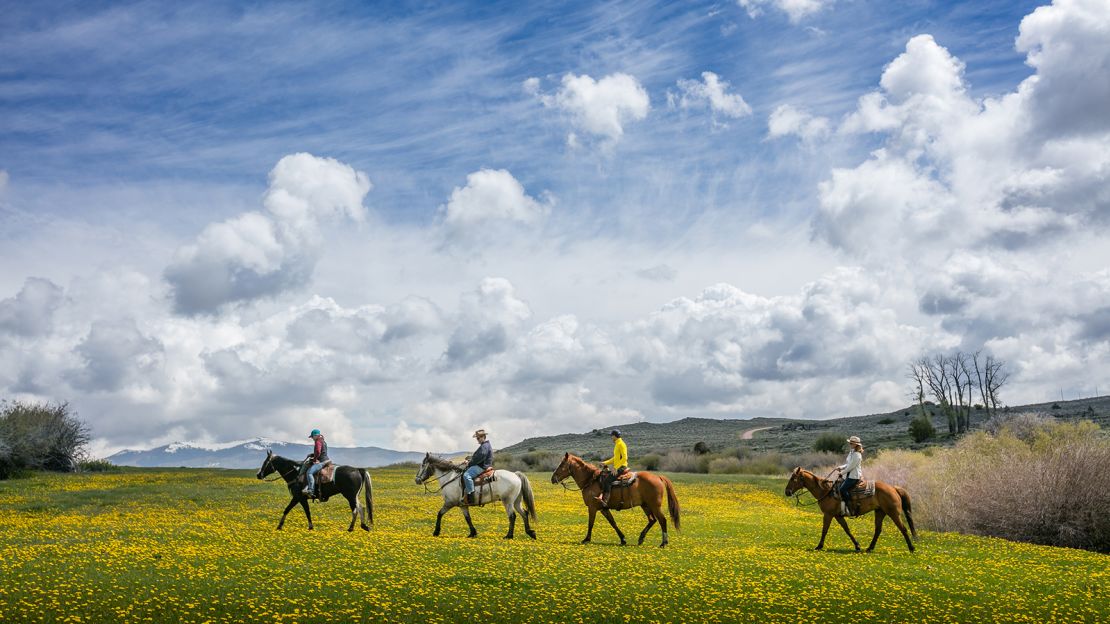
{"type": "Polygon", "coordinates": [[[464,235],[490,224],[534,225],[551,212],[553,200],[537,201],[504,169],[482,169],[466,177],[465,187],[455,187],[441,207],[448,235],[464,235]]]}

